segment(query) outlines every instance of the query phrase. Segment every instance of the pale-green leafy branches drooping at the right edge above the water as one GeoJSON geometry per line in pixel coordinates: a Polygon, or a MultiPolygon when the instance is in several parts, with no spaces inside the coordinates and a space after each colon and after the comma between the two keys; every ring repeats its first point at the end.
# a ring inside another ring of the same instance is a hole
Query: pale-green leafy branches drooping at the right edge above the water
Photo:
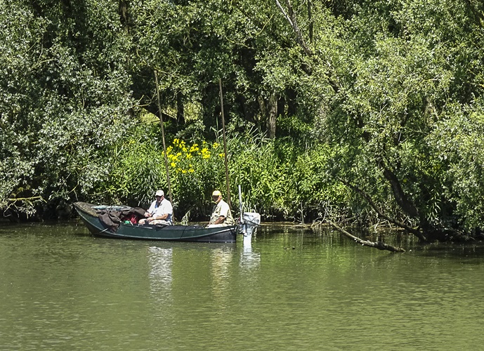
{"type": "Polygon", "coordinates": [[[484,105],[453,105],[449,116],[436,124],[429,135],[435,157],[433,167],[440,173],[440,202],[462,220],[466,230],[484,223],[483,138],[484,105]]]}

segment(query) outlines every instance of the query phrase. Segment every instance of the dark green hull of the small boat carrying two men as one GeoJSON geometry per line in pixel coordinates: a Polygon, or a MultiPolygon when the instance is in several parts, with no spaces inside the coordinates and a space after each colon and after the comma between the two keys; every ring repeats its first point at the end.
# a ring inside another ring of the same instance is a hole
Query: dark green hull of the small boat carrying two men
{"type": "Polygon", "coordinates": [[[94,206],[85,202],[74,203],[91,234],[96,237],[118,239],[145,239],[165,241],[235,242],[239,232],[238,225],[225,227],[202,227],[200,225],[138,225],[124,223],[107,225],[100,220],[100,211],[123,211],[124,206],[94,206]]]}

